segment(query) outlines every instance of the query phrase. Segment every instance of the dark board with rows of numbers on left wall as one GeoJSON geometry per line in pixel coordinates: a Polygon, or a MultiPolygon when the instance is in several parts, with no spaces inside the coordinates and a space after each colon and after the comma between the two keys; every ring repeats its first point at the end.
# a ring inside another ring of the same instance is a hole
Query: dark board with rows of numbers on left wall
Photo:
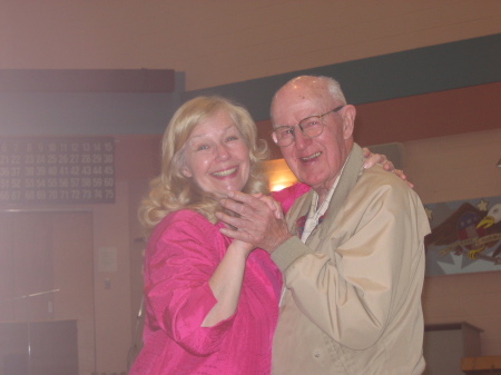
{"type": "Polygon", "coordinates": [[[0,205],[110,203],[114,138],[0,138],[0,205]]]}

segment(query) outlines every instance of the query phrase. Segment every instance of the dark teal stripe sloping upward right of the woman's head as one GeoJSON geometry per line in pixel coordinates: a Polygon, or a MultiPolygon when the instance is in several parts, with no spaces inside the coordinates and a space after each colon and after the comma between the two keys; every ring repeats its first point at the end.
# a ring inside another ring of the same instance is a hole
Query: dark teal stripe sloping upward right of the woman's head
{"type": "Polygon", "coordinates": [[[501,33],[188,91],[184,99],[218,93],[246,106],[255,120],[265,120],[274,92],[299,75],[336,78],[354,105],[497,82],[501,33]]]}

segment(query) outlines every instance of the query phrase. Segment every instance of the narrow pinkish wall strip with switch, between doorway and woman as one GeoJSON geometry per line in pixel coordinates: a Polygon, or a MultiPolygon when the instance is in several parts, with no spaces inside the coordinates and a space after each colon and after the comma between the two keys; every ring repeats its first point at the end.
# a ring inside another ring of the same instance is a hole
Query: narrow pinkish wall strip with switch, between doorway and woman
{"type": "Polygon", "coordinates": [[[92,209],[96,369],[99,372],[126,371],[131,345],[128,199],[128,182],[117,181],[115,205],[96,205],[92,209]],[[115,270],[100,272],[98,253],[102,248],[116,250],[115,270]],[[106,286],[108,280],[109,288],[106,286]]]}

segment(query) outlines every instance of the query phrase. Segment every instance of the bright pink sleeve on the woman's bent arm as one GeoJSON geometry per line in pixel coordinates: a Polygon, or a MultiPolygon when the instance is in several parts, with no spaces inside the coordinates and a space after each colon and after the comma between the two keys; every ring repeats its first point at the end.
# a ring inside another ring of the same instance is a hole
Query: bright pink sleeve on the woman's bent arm
{"type": "Polygon", "coordinates": [[[208,279],[227,244],[202,215],[185,210],[167,220],[146,254],[148,320],[151,329],[164,329],[189,353],[209,355],[220,348],[235,316],[213,327],[200,327],[217,302],[208,279]]]}

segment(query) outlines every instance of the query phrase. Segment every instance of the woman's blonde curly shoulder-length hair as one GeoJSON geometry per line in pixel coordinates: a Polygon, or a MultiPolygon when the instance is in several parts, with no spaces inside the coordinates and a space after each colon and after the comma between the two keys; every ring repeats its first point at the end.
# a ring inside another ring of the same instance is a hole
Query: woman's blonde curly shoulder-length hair
{"type": "Polygon", "coordinates": [[[189,135],[198,124],[219,110],[229,115],[249,149],[250,171],[243,191],[269,193],[262,166],[262,161],[268,157],[268,148],[263,139],[257,140],[257,129],[250,114],[240,105],[223,97],[197,97],[185,102],[174,114],[164,134],[160,175],[150,181],[149,195],[139,208],[139,221],[146,236],[168,214],[184,208],[196,210],[210,223],[217,223],[215,213],[220,209],[217,198],[183,176],[181,167],[189,135]]]}

